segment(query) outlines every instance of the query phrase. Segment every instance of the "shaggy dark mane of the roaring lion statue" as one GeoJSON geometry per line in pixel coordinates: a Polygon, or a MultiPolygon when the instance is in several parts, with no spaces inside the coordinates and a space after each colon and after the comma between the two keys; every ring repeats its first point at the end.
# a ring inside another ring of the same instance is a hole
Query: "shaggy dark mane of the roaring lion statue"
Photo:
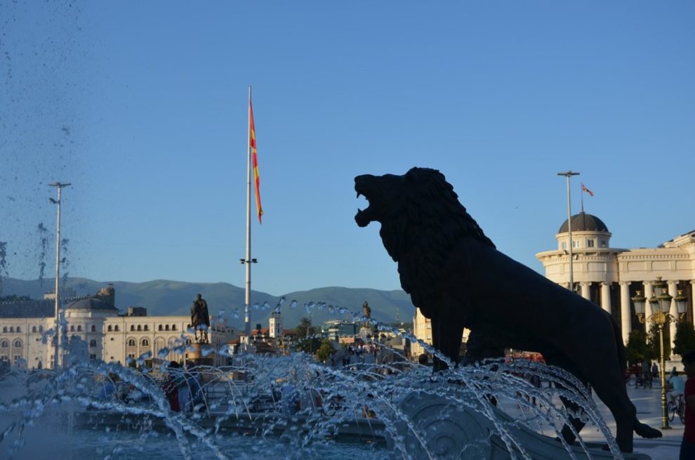
{"type": "Polygon", "coordinates": [[[444,174],[436,169],[413,168],[405,174],[404,190],[383,222],[381,239],[398,263],[401,286],[415,305],[435,296],[446,256],[463,237],[495,247],[458,202],[444,174]]]}

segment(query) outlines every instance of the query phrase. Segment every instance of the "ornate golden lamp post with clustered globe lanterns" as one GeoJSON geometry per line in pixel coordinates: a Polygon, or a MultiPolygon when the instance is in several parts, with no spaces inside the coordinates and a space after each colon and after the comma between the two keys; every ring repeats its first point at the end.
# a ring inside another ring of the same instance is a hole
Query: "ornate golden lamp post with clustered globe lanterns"
{"type": "Polygon", "coordinates": [[[635,304],[635,313],[637,313],[637,318],[640,322],[644,323],[649,321],[658,326],[659,346],[661,348],[661,429],[669,430],[671,427],[668,426],[668,410],[666,409],[666,361],[663,355],[663,328],[670,320],[680,321],[683,319],[685,316],[687,298],[680,290],[675,298],[670,296],[668,294],[667,284],[665,281],[661,280],[661,277],[656,278],[653,287],[654,295],[649,298],[649,305],[651,305],[651,311],[653,312],[652,315],[649,317],[645,317],[644,315],[644,305],[646,305],[647,299],[642,296],[642,291],[637,291],[637,295],[633,297],[633,303],[635,304]],[[672,299],[675,300],[676,303],[678,318],[668,313],[672,299]]]}

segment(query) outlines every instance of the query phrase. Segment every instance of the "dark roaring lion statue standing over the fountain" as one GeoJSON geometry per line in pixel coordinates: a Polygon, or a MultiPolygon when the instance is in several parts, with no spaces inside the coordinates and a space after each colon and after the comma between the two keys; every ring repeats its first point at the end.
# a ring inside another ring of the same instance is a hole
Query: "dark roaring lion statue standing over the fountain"
{"type": "MultiPolygon", "coordinates": [[[[536,351],[548,364],[590,383],[614,416],[622,452],[633,452],[633,431],[661,437],[637,420],[614,318],[497,251],[442,173],[413,168],[404,176],[357,176],[355,190],[369,202],[357,211],[357,225],[381,224],[379,234],[398,263],[401,286],[431,320],[432,345],[446,357],[458,363],[464,327],[474,337],[491,338],[498,349],[536,351]]],[[[435,371],[444,367],[435,360],[435,371]]],[[[577,431],[583,427],[579,419],[571,423],[577,431]]],[[[574,441],[569,427],[562,434],[574,441]]]]}

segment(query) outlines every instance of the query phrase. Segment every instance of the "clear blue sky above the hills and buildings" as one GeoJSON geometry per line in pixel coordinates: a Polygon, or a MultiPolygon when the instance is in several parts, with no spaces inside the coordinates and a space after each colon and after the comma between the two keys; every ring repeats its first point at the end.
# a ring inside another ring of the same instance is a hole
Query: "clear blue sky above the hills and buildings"
{"type": "Polygon", "coordinates": [[[694,22],[692,1],[0,0],[0,276],[52,276],[60,180],[70,276],[243,286],[249,85],[253,289],[399,288],[353,178],[412,166],[535,270],[567,169],[611,246],[654,247],[695,228],[694,22]]]}

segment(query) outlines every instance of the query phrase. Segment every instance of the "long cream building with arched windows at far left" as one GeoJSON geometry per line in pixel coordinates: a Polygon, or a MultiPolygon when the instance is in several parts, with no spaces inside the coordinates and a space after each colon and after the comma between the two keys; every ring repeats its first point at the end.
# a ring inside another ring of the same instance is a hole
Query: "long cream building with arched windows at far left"
{"type": "MultiPolygon", "coordinates": [[[[54,301],[47,297],[0,304],[0,361],[29,369],[53,367],[54,301]]],[[[65,305],[65,335],[72,357],[121,364],[143,355],[154,362],[188,357],[186,346],[194,341],[190,316],[147,316],[145,308],[128,308],[119,314],[114,297],[109,286],[65,305]]],[[[231,340],[230,327],[213,324],[209,332],[213,350],[223,349],[231,340]]],[[[218,353],[210,357],[214,365],[227,362],[218,353]]]]}

